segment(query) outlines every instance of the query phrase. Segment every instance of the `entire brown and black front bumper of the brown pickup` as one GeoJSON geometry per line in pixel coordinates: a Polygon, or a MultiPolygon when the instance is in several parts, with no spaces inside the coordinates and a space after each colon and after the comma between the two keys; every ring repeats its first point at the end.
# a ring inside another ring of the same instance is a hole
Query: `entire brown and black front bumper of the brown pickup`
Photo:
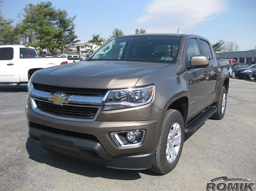
{"type": "Polygon", "coordinates": [[[111,168],[147,169],[151,167],[159,142],[162,110],[148,104],[100,112],[94,122],[75,122],[37,113],[28,101],[27,118],[29,135],[45,149],[111,168]],[[50,132],[47,127],[53,130],[50,132]],[[111,132],[138,129],[145,130],[141,145],[122,148],[111,137],[111,132]],[[72,136],[77,133],[92,135],[95,139],[72,136]]]}

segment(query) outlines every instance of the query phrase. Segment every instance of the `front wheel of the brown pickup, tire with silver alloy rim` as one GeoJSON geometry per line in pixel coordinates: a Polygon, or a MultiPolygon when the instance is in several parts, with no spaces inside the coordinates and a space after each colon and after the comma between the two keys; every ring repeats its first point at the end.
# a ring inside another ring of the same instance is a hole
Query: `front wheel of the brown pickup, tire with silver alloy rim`
{"type": "Polygon", "coordinates": [[[181,113],[177,110],[168,110],[164,115],[151,171],[167,174],[176,167],[183,148],[184,134],[184,119],[181,113]]]}

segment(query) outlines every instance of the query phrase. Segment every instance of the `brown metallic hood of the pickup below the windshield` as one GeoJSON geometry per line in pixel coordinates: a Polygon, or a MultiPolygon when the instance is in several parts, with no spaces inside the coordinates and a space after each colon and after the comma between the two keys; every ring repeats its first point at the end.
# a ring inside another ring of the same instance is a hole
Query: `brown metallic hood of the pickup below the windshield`
{"type": "Polygon", "coordinates": [[[152,62],[84,61],[40,69],[32,82],[62,87],[125,88],[135,86],[143,75],[165,66],[166,63],[152,62]]]}

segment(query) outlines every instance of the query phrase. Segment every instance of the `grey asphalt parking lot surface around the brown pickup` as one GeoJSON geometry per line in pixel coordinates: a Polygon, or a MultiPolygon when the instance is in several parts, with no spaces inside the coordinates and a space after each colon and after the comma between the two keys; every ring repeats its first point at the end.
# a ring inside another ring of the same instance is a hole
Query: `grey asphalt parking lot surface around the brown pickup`
{"type": "Polygon", "coordinates": [[[230,79],[225,117],[187,137],[177,167],[163,176],[40,148],[28,137],[26,88],[0,86],[0,190],[205,190],[217,176],[256,182],[256,81],[230,79]]]}

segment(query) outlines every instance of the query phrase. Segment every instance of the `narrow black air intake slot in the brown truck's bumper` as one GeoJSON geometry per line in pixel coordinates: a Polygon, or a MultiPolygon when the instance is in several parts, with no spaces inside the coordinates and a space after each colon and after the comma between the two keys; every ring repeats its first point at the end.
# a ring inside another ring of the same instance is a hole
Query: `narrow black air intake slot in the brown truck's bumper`
{"type": "Polygon", "coordinates": [[[65,135],[65,136],[69,136],[69,137],[76,137],[76,138],[88,139],[88,140],[91,140],[91,141],[99,142],[99,140],[95,136],[90,135],[90,134],[86,134],[86,133],[56,129],[56,128],[52,128],[50,126],[41,125],[41,124],[33,123],[33,122],[29,123],[29,127],[44,130],[44,131],[48,131],[48,132],[52,132],[52,133],[56,133],[58,135],[65,135]]]}

